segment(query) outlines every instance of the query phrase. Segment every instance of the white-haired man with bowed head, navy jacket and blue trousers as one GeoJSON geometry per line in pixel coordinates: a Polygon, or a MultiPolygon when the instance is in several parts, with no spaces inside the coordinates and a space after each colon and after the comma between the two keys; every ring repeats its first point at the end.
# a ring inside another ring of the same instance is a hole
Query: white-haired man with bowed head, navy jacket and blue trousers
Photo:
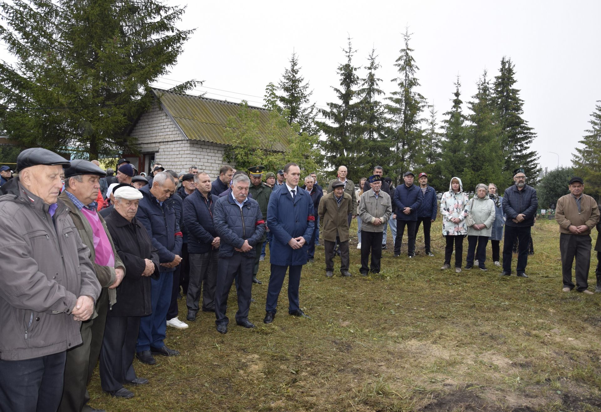
{"type": "Polygon", "coordinates": [[[182,232],[170,199],[175,192],[175,179],[162,171],[154,175],[151,188],[139,189],[142,200],[136,218],[148,232],[153,246],[159,251],[159,278],[150,280],[151,315],[140,319],[136,356],[147,364],[154,364],[153,354],[175,356],[180,352],[169,349],[163,340],[167,324],[165,316],[171,303],[171,288],[175,266],[182,262],[182,232]]]}

